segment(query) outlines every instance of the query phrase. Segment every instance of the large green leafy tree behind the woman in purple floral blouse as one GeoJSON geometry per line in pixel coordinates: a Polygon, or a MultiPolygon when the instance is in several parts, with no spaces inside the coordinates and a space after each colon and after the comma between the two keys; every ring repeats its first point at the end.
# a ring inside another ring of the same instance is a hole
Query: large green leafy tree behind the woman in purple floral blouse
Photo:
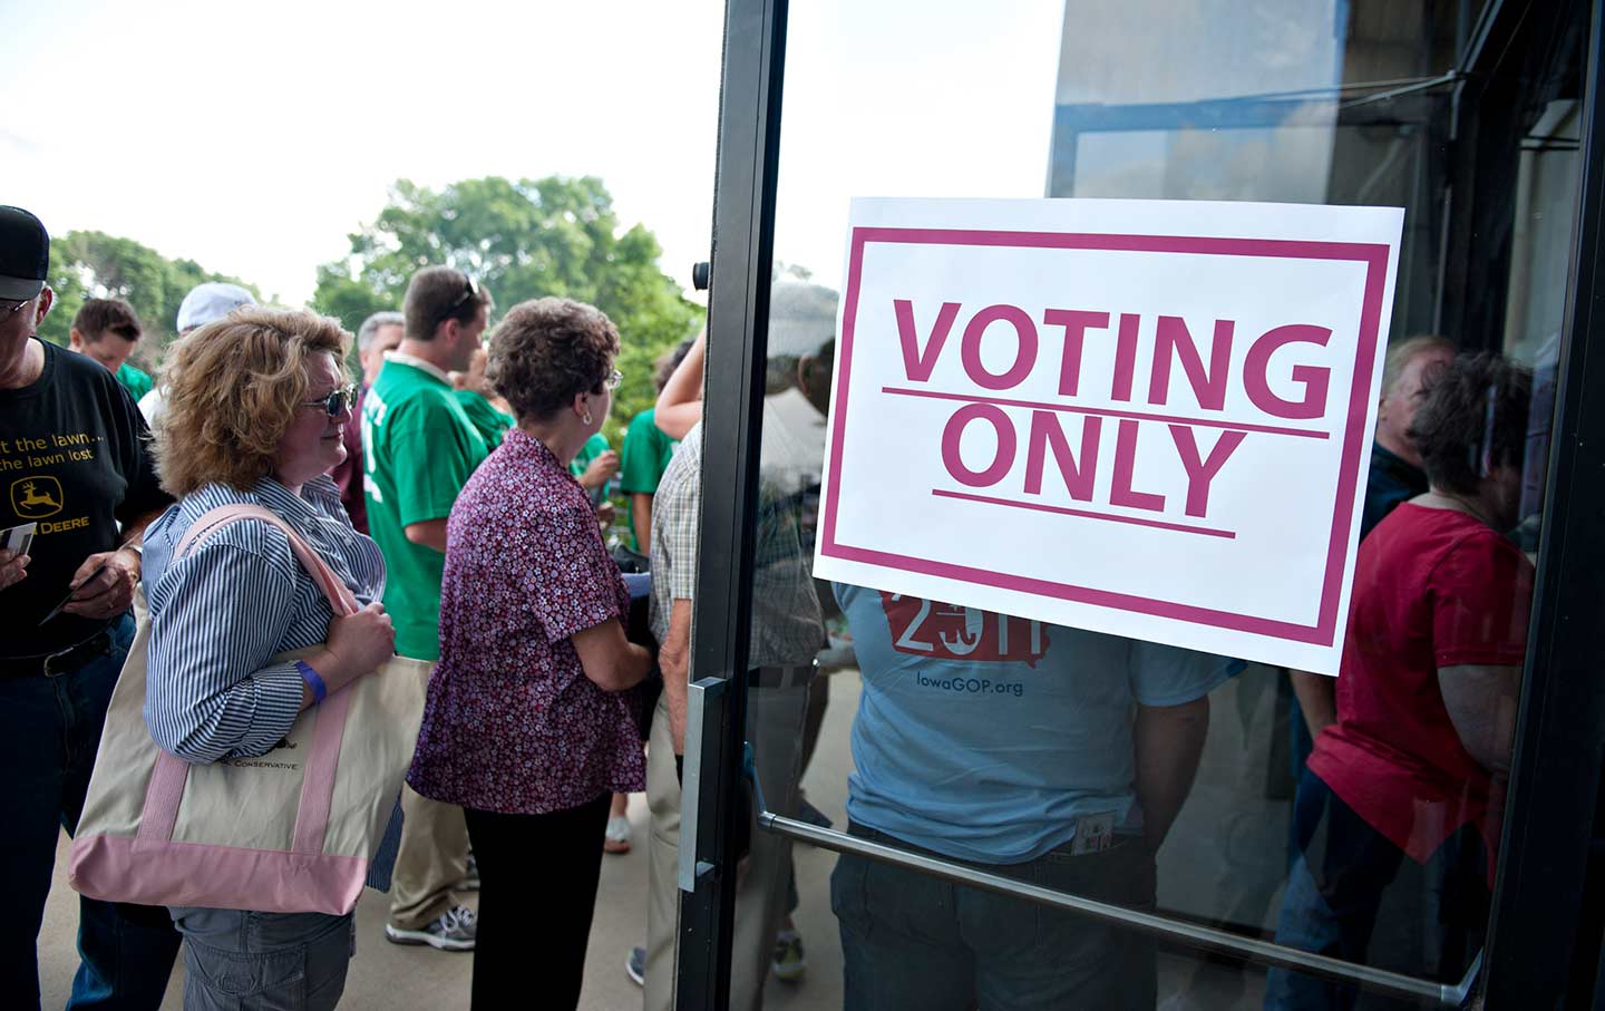
{"type": "Polygon", "coordinates": [[[615,449],[629,419],[656,400],[652,363],[703,316],[658,270],[656,238],[642,225],[623,229],[594,177],[488,177],[440,189],[398,180],[379,217],[350,239],[348,257],[318,268],[313,308],[351,332],[369,313],[400,310],[408,279],[433,265],[473,276],[498,310],[562,295],[607,313],[623,339],[624,384],[607,425],[615,449]]]}

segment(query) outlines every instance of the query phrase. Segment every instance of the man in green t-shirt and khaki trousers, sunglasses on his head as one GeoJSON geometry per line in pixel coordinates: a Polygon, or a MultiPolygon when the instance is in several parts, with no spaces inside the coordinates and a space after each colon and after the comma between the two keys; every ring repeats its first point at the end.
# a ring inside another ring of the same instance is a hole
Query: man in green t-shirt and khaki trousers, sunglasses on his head
{"type": "MultiPolygon", "coordinates": [[[[491,445],[464,411],[448,372],[465,371],[490,316],[490,294],[462,271],[412,274],[403,302],[404,334],[363,396],[368,530],[385,555],[385,611],[396,653],[440,658],[440,579],[446,517],[491,445]]],[[[469,878],[462,809],[403,788],[401,852],[385,937],[464,952],[473,912],[457,900],[469,878]]],[[[472,881],[470,881],[472,886],[472,881]]]]}

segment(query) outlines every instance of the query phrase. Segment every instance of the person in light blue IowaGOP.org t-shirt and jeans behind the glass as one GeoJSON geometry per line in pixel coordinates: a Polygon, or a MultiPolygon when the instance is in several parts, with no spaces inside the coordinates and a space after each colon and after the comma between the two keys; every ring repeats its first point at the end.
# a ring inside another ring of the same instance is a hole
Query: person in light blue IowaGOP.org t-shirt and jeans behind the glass
{"type": "MultiPolygon", "coordinates": [[[[1241,663],[836,586],[863,695],[849,831],[1130,908],[1241,663]]],[[[1154,944],[843,855],[847,1008],[1151,1006],[1154,944]]]]}

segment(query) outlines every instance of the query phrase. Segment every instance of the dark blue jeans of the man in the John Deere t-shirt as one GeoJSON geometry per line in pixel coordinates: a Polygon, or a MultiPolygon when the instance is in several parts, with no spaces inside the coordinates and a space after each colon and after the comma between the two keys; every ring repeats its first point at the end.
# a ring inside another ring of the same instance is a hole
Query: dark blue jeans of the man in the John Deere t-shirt
{"type": "MultiPolygon", "coordinates": [[[[133,642],[133,616],[112,623],[112,648],[59,677],[0,677],[0,993],[39,1006],[39,926],[56,841],[77,831],[106,704],[133,642]]],[[[162,908],[79,899],[79,971],[67,1008],[154,1011],[178,953],[162,908]]]]}

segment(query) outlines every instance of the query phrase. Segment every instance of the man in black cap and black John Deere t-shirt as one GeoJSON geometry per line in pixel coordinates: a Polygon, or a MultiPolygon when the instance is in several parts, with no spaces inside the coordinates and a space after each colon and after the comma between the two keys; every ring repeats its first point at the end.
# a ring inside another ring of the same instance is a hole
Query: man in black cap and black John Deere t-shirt
{"type": "MultiPolygon", "coordinates": [[[[0,207],[0,993],[19,1008],[39,1006],[58,836],[77,828],[133,640],[141,534],[172,502],[128,392],[37,337],[48,257],[39,218],[0,207]]],[[[154,1009],[178,934],[162,908],[80,899],[79,950],[69,1006],[154,1009]]]]}

